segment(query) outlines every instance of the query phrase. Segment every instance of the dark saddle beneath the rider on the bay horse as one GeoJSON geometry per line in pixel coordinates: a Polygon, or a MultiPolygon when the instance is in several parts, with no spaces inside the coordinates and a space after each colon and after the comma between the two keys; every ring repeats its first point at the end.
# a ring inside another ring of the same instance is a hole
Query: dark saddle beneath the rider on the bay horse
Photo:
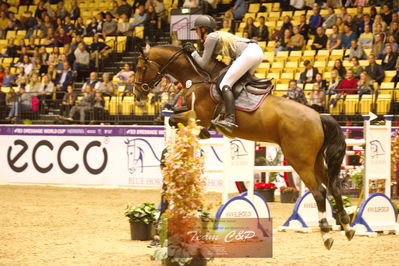
{"type": "MultiPolygon", "coordinates": [[[[219,88],[218,89],[219,93],[221,93],[220,83],[222,82],[227,71],[228,68],[223,70],[215,80],[215,84],[217,88],[219,88]]],[[[258,79],[247,72],[234,84],[232,88],[234,98],[237,99],[244,90],[248,93],[255,95],[269,94],[273,89],[272,80],[273,79],[267,79],[267,78],[258,79]]]]}

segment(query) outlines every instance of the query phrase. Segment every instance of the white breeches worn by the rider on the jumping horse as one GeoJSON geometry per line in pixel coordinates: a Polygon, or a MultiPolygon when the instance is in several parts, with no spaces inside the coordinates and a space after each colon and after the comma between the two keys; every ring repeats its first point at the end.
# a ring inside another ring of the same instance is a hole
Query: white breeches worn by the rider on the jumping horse
{"type": "Polygon", "coordinates": [[[222,90],[225,85],[233,87],[234,83],[239,80],[246,72],[252,75],[258,68],[259,64],[263,60],[262,48],[256,43],[248,44],[248,47],[242,52],[242,54],[234,60],[233,64],[227,71],[222,82],[220,83],[220,89],[222,90]]]}

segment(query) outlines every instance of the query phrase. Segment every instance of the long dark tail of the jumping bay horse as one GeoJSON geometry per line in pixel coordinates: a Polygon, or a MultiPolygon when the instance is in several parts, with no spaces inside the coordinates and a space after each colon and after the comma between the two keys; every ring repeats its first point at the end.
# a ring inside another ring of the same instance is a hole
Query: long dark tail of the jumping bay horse
{"type": "Polygon", "coordinates": [[[320,153],[326,163],[327,188],[333,191],[334,188],[341,191],[345,179],[339,178],[342,161],[346,153],[345,136],[338,122],[329,115],[321,115],[321,122],[324,131],[324,144],[320,153]]]}

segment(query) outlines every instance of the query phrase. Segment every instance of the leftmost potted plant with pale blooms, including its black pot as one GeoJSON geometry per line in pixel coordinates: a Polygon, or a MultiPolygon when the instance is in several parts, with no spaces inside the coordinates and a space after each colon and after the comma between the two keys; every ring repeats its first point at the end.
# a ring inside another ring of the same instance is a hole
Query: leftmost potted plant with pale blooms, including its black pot
{"type": "Polygon", "coordinates": [[[130,235],[132,240],[150,240],[153,234],[153,222],[156,219],[157,208],[154,203],[129,204],[125,216],[129,217],[130,235]]]}

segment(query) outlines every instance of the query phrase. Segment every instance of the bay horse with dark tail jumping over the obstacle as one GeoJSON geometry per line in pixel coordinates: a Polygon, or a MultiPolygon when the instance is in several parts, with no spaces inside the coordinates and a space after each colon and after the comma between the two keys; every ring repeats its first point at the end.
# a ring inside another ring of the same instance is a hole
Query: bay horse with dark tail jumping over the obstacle
{"type": "MultiPolygon", "coordinates": [[[[172,45],[155,46],[149,50],[148,55],[141,48],[139,51],[141,55],[136,67],[134,92],[136,99],[146,98],[150,89],[165,74],[173,76],[183,85],[192,83],[187,86],[189,88],[184,94],[188,110],[194,110],[199,125],[209,128],[216,108],[210,96],[210,83],[226,65],[213,60],[201,70],[181,47],[172,45]],[[193,94],[195,100],[192,99],[193,94]]],[[[170,120],[185,123],[189,117],[193,117],[192,113],[176,113],[170,120]]],[[[351,240],[355,231],[349,227],[350,219],[341,197],[343,180],[339,178],[346,143],[338,122],[303,104],[268,95],[256,111],[236,111],[236,123],[238,128],[231,134],[223,129],[218,131],[228,137],[271,142],[281,147],[287,162],[299,174],[316,200],[325,247],[330,249],[334,241],[329,235],[330,228],[326,219],[327,191],[336,201],[338,221],[348,240],[351,240]]]]}

